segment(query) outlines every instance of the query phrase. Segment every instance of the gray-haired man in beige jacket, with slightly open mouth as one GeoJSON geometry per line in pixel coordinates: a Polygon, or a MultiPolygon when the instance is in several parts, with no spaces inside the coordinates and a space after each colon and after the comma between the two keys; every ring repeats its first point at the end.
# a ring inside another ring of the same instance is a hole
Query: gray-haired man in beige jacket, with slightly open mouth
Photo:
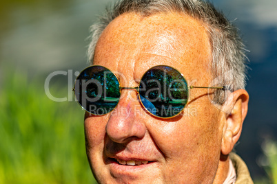
{"type": "Polygon", "coordinates": [[[252,183],[245,163],[232,153],[249,100],[244,50],[236,28],[205,1],[123,0],[107,10],[92,26],[90,61],[114,73],[121,94],[107,113],[85,108],[86,148],[96,180],[252,183]],[[150,93],[138,92],[145,72],[157,65],[178,69],[187,81],[188,102],[169,118],[156,115],[159,108],[150,111],[150,93]]]}

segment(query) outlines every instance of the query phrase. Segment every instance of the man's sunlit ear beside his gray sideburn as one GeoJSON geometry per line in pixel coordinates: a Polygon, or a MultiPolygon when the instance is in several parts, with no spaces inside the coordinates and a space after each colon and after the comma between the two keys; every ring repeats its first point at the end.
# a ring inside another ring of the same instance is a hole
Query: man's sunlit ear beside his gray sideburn
{"type": "Polygon", "coordinates": [[[249,95],[244,89],[234,91],[229,95],[225,104],[223,104],[223,112],[225,113],[221,119],[224,123],[223,138],[221,141],[221,153],[229,154],[238,139],[243,128],[243,121],[247,115],[249,95]]]}

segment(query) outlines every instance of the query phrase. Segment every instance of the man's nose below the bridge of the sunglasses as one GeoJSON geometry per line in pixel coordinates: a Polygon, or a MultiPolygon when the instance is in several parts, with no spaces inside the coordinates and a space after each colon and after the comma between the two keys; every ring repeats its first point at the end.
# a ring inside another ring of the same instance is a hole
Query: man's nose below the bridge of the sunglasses
{"type": "Polygon", "coordinates": [[[116,143],[126,143],[133,139],[142,139],[145,135],[146,128],[141,117],[141,104],[139,104],[136,93],[125,95],[106,124],[107,136],[116,143]]]}

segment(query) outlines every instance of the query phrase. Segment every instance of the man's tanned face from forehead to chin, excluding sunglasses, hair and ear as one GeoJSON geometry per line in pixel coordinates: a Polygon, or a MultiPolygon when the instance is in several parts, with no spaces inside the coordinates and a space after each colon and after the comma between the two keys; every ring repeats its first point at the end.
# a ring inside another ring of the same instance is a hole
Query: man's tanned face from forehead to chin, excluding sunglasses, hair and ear
{"type": "MultiPolygon", "coordinates": [[[[128,13],[105,28],[94,65],[114,71],[123,87],[138,87],[143,73],[156,65],[174,67],[189,84],[206,87],[212,82],[211,58],[207,31],[195,19],[173,13],[147,17],[128,13]]],[[[191,89],[185,113],[172,119],[147,113],[132,89],[122,90],[112,113],[86,113],[86,146],[96,179],[100,183],[212,183],[223,125],[207,93],[207,89],[191,89]]]]}

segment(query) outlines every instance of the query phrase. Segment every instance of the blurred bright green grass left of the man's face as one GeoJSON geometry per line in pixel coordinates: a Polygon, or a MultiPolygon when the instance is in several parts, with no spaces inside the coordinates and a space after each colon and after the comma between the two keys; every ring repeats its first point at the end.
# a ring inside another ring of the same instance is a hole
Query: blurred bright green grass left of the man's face
{"type": "MultiPolygon", "coordinates": [[[[1,73],[0,82],[0,183],[96,183],[79,105],[53,102],[44,80],[8,71],[12,74],[1,73]]],[[[51,91],[68,94],[66,87],[51,91]]]]}

